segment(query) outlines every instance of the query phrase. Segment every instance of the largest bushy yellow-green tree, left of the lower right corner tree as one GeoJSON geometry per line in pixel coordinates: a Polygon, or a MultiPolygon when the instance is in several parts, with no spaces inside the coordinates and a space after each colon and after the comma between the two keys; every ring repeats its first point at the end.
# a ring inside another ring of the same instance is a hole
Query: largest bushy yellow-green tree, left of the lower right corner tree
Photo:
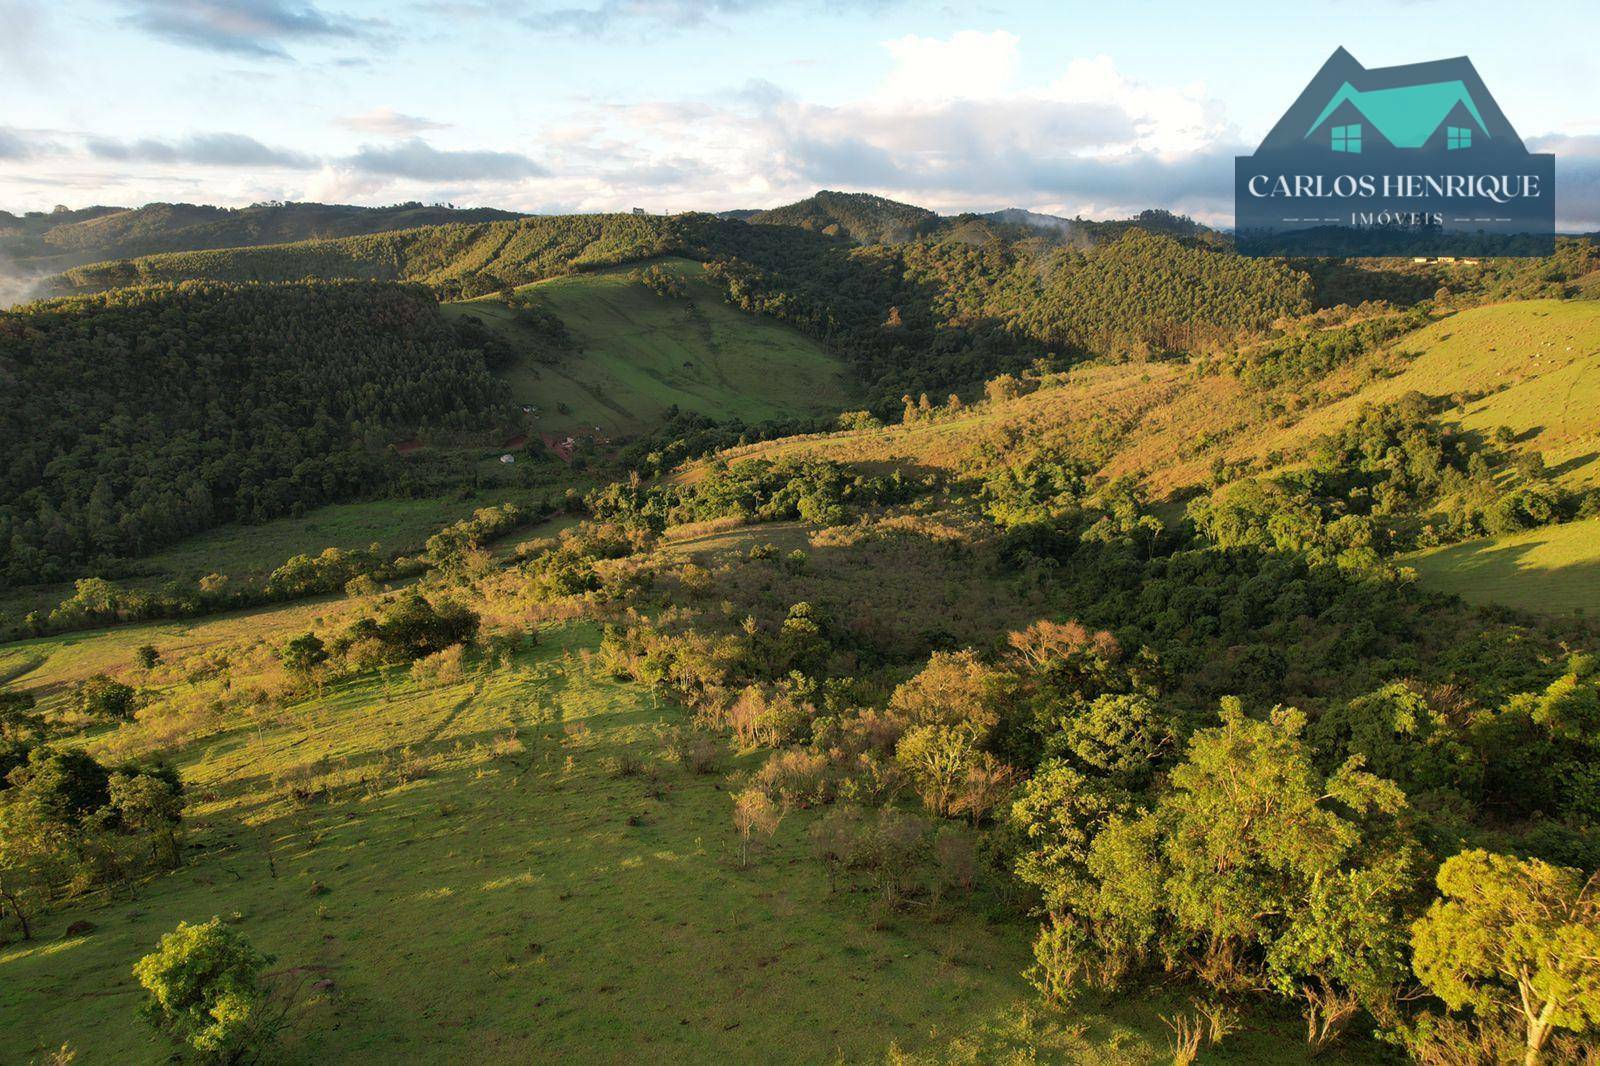
{"type": "Polygon", "coordinates": [[[1158,807],[1166,906],[1214,978],[1254,957],[1280,994],[1322,986],[1376,1004],[1402,957],[1405,795],[1358,759],[1318,773],[1304,727],[1294,709],[1250,719],[1229,698],[1222,723],[1195,733],[1158,807]]]}

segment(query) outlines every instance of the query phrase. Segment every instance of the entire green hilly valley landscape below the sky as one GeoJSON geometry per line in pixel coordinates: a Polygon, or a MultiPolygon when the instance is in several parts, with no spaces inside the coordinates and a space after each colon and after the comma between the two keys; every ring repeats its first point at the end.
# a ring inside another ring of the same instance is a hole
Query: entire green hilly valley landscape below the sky
{"type": "Polygon", "coordinates": [[[0,1061],[1520,1061],[1450,952],[1590,973],[1592,240],[195,218],[0,312],[0,1061]]]}

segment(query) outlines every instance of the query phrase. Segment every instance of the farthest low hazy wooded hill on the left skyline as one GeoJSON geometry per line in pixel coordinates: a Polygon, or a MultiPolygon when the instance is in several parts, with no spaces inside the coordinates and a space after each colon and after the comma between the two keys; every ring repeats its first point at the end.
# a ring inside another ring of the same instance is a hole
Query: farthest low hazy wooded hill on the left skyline
{"type": "Polygon", "coordinates": [[[96,206],[80,211],[0,211],[0,256],[22,271],[59,271],[83,262],[162,251],[278,245],[320,237],[354,237],[446,222],[520,218],[496,208],[397,203],[363,208],[341,203],[256,203],[219,208],[197,203],[96,206]]]}

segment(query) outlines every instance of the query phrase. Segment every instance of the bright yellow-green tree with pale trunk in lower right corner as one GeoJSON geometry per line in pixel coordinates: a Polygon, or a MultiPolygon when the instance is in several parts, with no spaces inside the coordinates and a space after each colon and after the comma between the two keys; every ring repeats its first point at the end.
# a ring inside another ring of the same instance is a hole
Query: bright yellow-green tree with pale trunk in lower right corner
{"type": "Polygon", "coordinates": [[[1438,868],[1442,900],[1411,927],[1411,965],[1451,1010],[1518,1018],[1525,1063],[1555,1029],[1600,1026],[1600,892],[1578,871],[1485,850],[1438,868]]]}

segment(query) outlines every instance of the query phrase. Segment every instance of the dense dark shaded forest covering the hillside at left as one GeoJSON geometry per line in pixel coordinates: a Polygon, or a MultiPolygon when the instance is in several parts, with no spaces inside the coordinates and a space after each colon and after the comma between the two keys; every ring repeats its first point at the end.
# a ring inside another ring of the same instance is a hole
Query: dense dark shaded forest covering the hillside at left
{"type": "Polygon", "coordinates": [[[386,445],[493,432],[422,288],[184,283],[0,312],[0,586],[384,487],[386,445]]]}

